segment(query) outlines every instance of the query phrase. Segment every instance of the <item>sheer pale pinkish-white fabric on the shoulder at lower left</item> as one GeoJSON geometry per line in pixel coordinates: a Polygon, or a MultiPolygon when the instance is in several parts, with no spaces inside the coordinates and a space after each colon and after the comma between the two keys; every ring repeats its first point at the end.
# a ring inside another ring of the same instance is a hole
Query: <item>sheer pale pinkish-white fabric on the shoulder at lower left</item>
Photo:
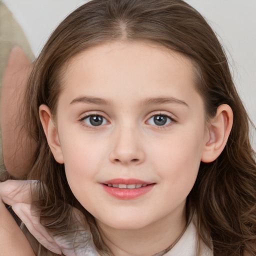
{"type": "Polygon", "coordinates": [[[41,225],[40,211],[31,204],[31,194],[38,188],[38,182],[7,180],[0,183],[0,196],[5,203],[12,205],[30,233],[50,251],[66,256],[99,256],[84,216],[78,209],[70,206],[72,214],[66,233],[54,234],[41,225]]]}

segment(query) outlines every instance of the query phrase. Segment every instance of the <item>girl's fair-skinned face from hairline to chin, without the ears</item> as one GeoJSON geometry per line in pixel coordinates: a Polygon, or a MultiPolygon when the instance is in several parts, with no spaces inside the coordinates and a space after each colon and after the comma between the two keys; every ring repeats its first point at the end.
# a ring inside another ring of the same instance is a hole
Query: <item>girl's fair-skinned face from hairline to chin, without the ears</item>
{"type": "Polygon", "coordinates": [[[209,138],[191,61],[112,42],[80,53],[63,74],[55,157],[78,201],[118,229],[182,218],[209,138]]]}

